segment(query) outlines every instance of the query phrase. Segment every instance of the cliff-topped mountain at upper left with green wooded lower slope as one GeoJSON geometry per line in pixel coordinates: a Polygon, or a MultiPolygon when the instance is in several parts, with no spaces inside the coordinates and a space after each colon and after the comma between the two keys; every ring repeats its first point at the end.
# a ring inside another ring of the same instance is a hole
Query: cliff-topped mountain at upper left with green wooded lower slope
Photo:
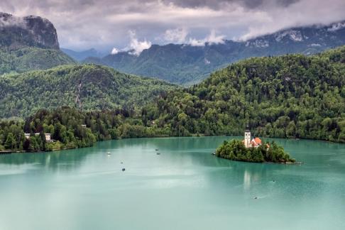
{"type": "Polygon", "coordinates": [[[0,75],[72,63],[59,50],[56,30],[48,19],[0,13],[0,75]]]}

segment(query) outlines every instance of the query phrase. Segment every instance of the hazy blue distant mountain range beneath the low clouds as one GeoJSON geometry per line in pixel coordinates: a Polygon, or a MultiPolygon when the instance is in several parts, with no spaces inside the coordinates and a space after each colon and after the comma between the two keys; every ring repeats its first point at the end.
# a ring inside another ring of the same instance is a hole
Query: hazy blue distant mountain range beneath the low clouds
{"type": "Polygon", "coordinates": [[[289,28],[246,41],[224,40],[217,45],[152,45],[138,56],[128,51],[102,58],[89,57],[84,62],[177,84],[194,84],[214,70],[248,57],[288,53],[310,55],[344,44],[345,21],[341,21],[329,26],[289,28]]]}

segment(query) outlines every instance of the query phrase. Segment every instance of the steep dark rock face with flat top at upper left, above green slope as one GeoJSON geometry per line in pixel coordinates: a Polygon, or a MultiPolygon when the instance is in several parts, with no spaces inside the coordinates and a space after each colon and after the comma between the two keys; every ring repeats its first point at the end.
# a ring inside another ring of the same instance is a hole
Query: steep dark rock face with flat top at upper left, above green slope
{"type": "Polygon", "coordinates": [[[21,18],[0,13],[0,47],[17,50],[26,46],[58,50],[53,23],[39,16],[21,18]]]}

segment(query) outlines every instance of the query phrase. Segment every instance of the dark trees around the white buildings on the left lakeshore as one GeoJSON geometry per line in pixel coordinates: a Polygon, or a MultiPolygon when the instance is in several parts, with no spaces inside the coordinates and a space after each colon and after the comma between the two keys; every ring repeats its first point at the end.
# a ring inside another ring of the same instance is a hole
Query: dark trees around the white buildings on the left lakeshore
{"type": "Polygon", "coordinates": [[[132,109],[87,112],[64,106],[53,111],[40,109],[25,121],[0,121],[0,151],[81,148],[95,141],[154,136],[170,136],[170,131],[143,126],[132,109]],[[31,133],[30,138],[25,133],[31,133]],[[46,143],[45,133],[51,134],[53,143],[46,143]]]}

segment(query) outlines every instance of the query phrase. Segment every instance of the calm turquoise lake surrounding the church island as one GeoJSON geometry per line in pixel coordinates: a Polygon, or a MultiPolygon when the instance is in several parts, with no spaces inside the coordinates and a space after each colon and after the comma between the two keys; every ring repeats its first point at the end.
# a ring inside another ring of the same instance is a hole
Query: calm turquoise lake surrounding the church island
{"type": "Polygon", "coordinates": [[[0,229],[345,229],[344,144],[274,139],[302,165],[211,154],[230,138],[0,155],[0,229]]]}

